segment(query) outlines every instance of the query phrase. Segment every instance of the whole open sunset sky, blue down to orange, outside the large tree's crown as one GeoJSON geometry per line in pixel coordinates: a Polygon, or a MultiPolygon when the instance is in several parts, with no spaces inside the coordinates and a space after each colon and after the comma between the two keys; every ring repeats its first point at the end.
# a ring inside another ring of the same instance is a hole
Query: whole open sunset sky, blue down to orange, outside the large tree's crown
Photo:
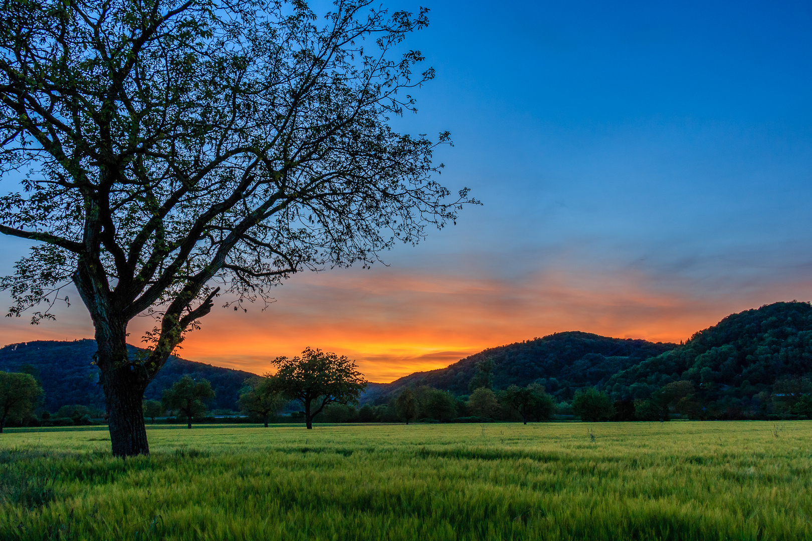
{"type": "MultiPolygon", "coordinates": [[[[261,372],[313,346],[391,381],[557,331],[680,341],[812,299],[809,2],[429,6],[409,45],[437,78],[394,123],[451,131],[441,179],[484,205],[388,267],[215,309],[181,356],[261,372]]],[[[0,272],[24,249],[0,238],[0,272]]],[[[0,343],[92,337],[80,303],[58,316],[2,320],[0,343]]]]}

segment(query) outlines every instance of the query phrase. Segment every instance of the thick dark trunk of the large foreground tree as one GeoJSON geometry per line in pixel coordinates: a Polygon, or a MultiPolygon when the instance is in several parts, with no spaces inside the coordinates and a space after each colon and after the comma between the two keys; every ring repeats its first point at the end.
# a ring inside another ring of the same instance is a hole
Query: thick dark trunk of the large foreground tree
{"type": "Polygon", "coordinates": [[[107,413],[110,415],[110,444],[115,457],[149,454],[144,410],[141,401],[149,384],[145,367],[132,363],[127,354],[127,324],[94,321],[96,363],[101,371],[107,413]]]}

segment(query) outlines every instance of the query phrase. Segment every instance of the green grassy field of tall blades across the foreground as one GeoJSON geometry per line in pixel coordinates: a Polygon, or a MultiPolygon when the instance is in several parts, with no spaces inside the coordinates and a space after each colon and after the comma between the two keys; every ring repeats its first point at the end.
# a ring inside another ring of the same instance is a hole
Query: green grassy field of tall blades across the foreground
{"type": "Polygon", "coordinates": [[[0,435],[0,539],[812,539],[812,422],[148,433],[0,435]]]}

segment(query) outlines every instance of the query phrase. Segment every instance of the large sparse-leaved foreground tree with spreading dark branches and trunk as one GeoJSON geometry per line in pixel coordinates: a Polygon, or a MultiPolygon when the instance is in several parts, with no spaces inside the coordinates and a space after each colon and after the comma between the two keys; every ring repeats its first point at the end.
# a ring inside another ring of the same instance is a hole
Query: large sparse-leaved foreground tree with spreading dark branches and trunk
{"type": "Polygon", "coordinates": [[[434,76],[402,45],[426,24],[367,0],[324,17],[300,0],[2,2],[0,174],[21,187],[0,233],[36,244],[0,289],[33,323],[79,290],[114,455],[149,453],[144,390],[221,291],[235,310],[268,301],[471,202],[430,178],[447,134],[389,124],[434,76]],[[157,324],[134,358],[139,315],[157,324]]]}

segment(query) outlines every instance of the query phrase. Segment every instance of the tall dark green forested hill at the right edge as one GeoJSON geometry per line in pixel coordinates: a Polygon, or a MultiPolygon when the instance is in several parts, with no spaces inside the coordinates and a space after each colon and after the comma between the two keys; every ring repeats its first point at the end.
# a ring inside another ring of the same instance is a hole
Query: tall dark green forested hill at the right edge
{"type": "Polygon", "coordinates": [[[812,372],[812,306],[774,303],[732,314],[685,345],[620,371],[606,388],[619,398],[646,398],[676,380],[691,380],[704,400],[751,398],[776,380],[812,372]]]}

